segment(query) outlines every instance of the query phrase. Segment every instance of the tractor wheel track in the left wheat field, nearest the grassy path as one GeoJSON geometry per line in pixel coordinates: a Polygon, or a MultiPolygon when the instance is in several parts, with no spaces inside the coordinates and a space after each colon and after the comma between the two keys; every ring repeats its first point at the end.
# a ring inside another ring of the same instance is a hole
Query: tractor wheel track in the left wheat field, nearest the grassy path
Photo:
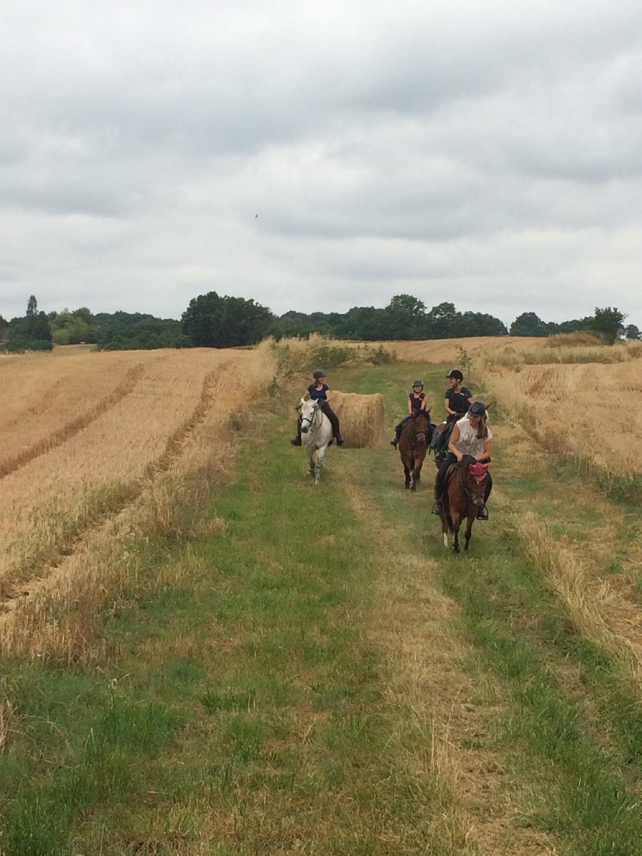
{"type": "Polygon", "coordinates": [[[166,473],[172,463],[180,458],[187,440],[209,413],[214,402],[215,378],[219,377],[226,367],[218,366],[216,370],[205,375],[196,407],[169,435],[161,455],[156,461],[147,465],[138,479],[133,479],[126,484],[116,484],[97,493],[95,497],[90,497],[86,508],[81,509],[78,518],[68,520],[66,525],[63,524],[53,544],[47,544],[43,549],[33,553],[21,562],[13,573],[0,580],[0,614],[7,613],[17,598],[28,597],[33,584],[43,580],[59,568],[68,556],[72,556],[88,532],[104,525],[117,514],[121,514],[159,475],[166,473]]]}

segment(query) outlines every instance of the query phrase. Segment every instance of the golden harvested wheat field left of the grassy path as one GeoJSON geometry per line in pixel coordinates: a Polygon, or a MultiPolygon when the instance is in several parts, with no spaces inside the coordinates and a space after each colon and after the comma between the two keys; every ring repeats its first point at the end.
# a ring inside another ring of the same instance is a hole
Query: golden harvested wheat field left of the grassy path
{"type": "Polygon", "coordinates": [[[270,370],[269,354],[211,349],[0,360],[4,609],[39,581],[59,586],[105,526],[126,531],[152,507],[170,515],[170,495],[158,508],[168,479],[198,479],[213,459],[223,468],[230,419],[270,370]]]}

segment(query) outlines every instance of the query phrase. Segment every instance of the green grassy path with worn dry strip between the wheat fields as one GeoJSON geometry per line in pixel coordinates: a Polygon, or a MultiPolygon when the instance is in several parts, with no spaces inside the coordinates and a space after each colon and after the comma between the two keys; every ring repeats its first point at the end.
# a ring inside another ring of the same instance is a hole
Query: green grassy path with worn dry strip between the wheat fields
{"type": "MultiPolygon", "coordinates": [[[[413,372],[336,385],[395,413],[413,372]]],[[[132,545],[91,669],[3,664],[0,853],[640,853],[639,719],[508,517],[444,556],[431,468],[334,449],[314,489],[291,427],[187,547],[132,545]]]]}

